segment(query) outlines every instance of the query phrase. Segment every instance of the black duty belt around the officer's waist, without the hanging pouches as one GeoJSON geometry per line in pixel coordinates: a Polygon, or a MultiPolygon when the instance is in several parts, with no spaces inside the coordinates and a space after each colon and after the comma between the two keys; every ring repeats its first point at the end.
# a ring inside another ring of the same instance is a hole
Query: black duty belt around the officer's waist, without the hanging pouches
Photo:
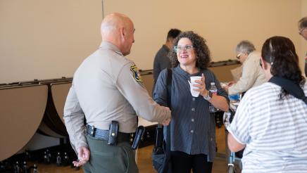
{"type": "MultiPolygon", "coordinates": [[[[94,139],[108,141],[108,130],[98,129],[94,126],[87,124],[87,134],[92,136],[94,139]]],[[[127,134],[123,132],[118,132],[117,140],[119,142],[132,142],[134,134],[127,134]]]]}

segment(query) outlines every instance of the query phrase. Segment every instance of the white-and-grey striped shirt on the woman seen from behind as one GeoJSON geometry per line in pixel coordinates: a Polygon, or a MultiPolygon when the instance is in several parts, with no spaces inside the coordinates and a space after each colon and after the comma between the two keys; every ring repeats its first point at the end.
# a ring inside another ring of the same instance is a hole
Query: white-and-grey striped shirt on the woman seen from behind
{"type": "MultiPolygon", "coordinates": [[[[307,95],[307,83],[303,88],[307,95]]],[[[242,172],[307,172],[307,105],[267,82],[246,92],[229,132],[246,144],[242,172]]]]}

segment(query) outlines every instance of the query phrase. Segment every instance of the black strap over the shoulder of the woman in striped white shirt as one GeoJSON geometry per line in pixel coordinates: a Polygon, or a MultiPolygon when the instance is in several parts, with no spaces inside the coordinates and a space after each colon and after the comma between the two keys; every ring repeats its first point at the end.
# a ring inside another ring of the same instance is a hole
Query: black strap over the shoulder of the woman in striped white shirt
{"type": "Polygon", "coordinates": [[[307,97],[305,96],[303,89],[301,89],[298,84],[294,84],[294,82],[289,79],[276,76],[271,77],[269,82],[272,82],[273,84],[277,84],[278,86],[282,87],[283,89],[288,91],[289,94],[301,99],[307,105],[307,97]]]}

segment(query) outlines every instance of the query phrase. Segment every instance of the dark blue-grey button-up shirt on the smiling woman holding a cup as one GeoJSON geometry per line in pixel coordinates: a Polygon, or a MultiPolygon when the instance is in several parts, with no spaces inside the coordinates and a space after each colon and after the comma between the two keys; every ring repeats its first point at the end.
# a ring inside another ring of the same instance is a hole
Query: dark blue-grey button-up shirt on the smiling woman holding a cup
{"type": "MultiPolygon", "coordinates": [[[[182,151],[189,155],[208,155],[207,161],[213,162],[215,157],[215,119],[209,113],[209,102],[201,95],[192,97],[188,80],[191,76],[206,77],[206,89],[210,83],[215,82],[218,95],[225,96],[227,93],[220,82],[210,70],[200,70],[190,75],[178,65],[173,69],[171,110],[172,120],[170,122],[170,150],[182,151]]],[[[153,99],[160,105],[167,105],[167,70],[163,70],[156,82],[153,99]]],[[[228,98],[227,98],[228,99],[228,98]]]]}

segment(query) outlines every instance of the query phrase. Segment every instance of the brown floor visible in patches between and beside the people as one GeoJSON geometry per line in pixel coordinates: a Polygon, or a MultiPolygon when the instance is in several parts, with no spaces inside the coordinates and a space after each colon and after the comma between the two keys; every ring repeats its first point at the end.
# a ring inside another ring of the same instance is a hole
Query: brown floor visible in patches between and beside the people
{"type": "MultiPolygon", "coordinates": [[[[225,156],[225,128],[217,128],[216,136],[218,143],[218,157],[213,162],[213,173],[225,173],[227,171],[227,163],[225,156]]],[[[155,173],[151,163],[151,151],[153,146],[140,148],[137,151],[137,165],[140,173],[155,173]]],[[[43,173],[73,173],[83,172],[82,169],[75,170],[70,167],[56,167],[56,165],[38,165],[39,172],[43,173]]]]}

